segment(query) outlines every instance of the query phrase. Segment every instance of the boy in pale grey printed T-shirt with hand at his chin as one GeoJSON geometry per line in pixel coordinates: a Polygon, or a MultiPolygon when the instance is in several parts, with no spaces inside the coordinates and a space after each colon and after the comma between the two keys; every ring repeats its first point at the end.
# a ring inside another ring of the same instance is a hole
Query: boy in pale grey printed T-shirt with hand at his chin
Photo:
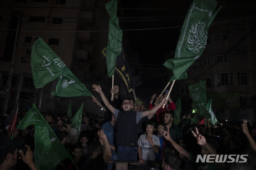
{"type": "Polygon", "coordinates": [[[138,140],[138,155],[140,164],[145,160],[155,160],[155,153],[159,152],[160,140],[153,132],[156,130],[156,123],[148,121],[146,131],[147,134],[140,135],[138,140]]]}

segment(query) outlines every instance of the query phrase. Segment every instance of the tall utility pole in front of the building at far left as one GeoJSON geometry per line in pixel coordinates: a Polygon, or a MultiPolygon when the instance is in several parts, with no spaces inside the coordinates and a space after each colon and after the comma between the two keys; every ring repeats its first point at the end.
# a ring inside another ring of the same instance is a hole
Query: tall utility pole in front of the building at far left
{"type": "Polygon", "coordinates": [[[10,88],[12,85],[12,74],[13,74],[13,67],[14,67],[14,57],[15,57],[15,53],[16,53],[16,46],[17,46],[17,40],[18,40],[18,33],[19,33],[19,28],[20,28],[20,14],[17,14],[18,19],[18,25],[17,25],[17,30],[16,30],[16,36],[15,36],[15,40],[14,40],[14,46],[13,46],[13,51],[12,51],[12,61],[11,61],[11,65],[10,65],[10,72],[9,72],[9,76],[8,76],[8,80],[7,80],[7,85],[5,88],[6,91],[6,96],[5,96],[5,101],[4,101],[4,112],[3,114],[7,111],[8,109],[8,101],[10,99],[10,88]]]}

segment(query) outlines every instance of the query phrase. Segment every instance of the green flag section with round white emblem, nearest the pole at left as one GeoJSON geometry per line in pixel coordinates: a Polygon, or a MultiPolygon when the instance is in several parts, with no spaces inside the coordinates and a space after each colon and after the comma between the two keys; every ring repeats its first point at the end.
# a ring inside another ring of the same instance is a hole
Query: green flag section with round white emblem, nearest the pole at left
{"type": "Polygon", "coordinates": [[[76,76],[68,69],[66,73],[58,79],[56,90],[52,95],[59,97],[75,97],[75,96],[91,96],[85,85],[76,78],[76,76]]]}

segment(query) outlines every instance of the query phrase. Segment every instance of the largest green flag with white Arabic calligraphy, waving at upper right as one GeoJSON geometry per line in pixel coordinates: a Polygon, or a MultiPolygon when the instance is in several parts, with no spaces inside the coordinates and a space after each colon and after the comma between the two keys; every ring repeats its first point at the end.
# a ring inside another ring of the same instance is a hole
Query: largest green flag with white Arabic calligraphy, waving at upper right
{"type": "Polygon", "coordinates": [[[174,59],[168,59],[164,66],[172,69],[175,79],[198,59],[206,46],[207,30],[216,14],[217,0],[194,0],[182,26],[174,59]]]}

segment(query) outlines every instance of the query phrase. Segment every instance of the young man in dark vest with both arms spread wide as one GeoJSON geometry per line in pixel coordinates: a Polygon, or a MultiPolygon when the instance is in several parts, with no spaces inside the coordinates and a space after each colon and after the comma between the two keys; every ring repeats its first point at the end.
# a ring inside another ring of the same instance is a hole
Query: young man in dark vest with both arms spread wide
{"type": "MultiPolygon", "coordinates": [[[[94,91],[100,93],[102,101],[108,109],[116,116],[116,145],[118,160],[137,160],[138,147],[138,122],[142,117],[148,116],[151,119],[156,111],[167,101],[163,99],[158,105],[150,111],[133,112],[132,103],[130,99],[124,99],[122,102],[122,111],[110,105],[108,99],[105,97],[99,85],[92,85],[94,91]]],[[[112,100],[112,99],[111,99],[112,100]]]]}

